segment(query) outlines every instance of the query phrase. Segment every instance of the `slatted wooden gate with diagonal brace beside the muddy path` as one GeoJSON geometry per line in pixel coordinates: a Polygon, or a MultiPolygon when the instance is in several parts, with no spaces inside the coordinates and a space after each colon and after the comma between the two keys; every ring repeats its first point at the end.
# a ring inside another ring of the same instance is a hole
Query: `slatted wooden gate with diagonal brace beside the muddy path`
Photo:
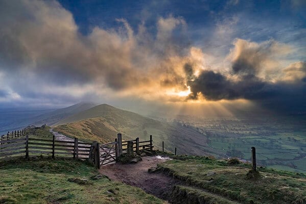
{"type": "Polygon", "coordinates": [[[117,141],[100,145],[100,166],[114,163],[117,160],[117,141]]]}

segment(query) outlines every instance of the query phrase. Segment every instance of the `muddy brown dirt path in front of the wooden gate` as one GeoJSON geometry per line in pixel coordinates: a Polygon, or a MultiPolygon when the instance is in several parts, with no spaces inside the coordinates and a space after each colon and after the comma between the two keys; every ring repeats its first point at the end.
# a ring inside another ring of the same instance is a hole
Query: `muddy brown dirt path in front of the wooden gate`
{"type": "Polygon", "coordinates": [[[163,173],[148,173],[148,169],[156,167],[158,163],[166,161],[161,157],[143,157],[143,161],[134,164],[115,163],[101,167],[100,173],[109,179],[121,181],[125,184],[142,188],[147,193],[161,199],[169,198],[169,190],[180,183],[163,173]]]}

